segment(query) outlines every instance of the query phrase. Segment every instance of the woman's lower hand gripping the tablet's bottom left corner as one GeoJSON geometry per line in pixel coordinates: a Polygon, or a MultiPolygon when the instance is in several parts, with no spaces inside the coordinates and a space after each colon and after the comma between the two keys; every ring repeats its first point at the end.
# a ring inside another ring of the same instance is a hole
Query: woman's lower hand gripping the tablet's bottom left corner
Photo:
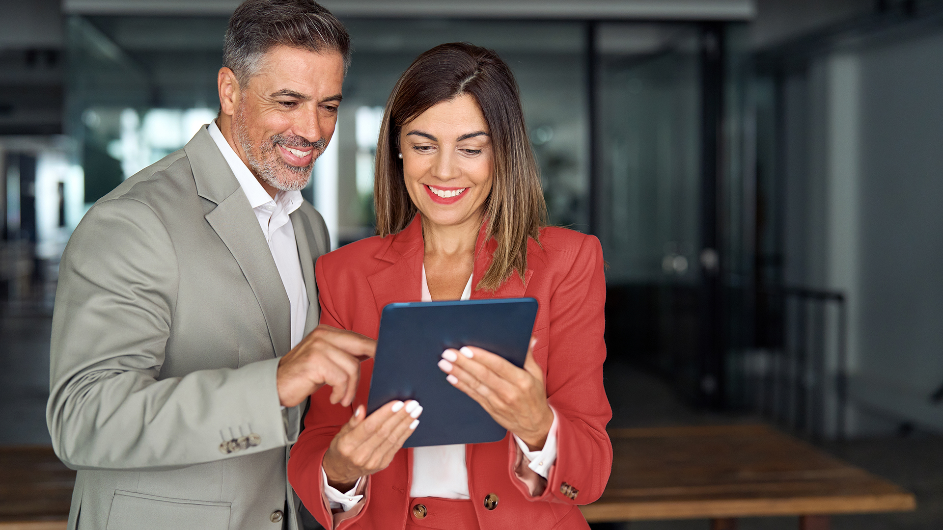
{"type": "Polygon", "coordinates": [[[420,414],[422,406],[417,401],[388,403],[368,418],[364,406],[356,407],[324,454],[322,466],[327,484],[347,491],[361,476],[385,470],[416,430],[420,414]]]}

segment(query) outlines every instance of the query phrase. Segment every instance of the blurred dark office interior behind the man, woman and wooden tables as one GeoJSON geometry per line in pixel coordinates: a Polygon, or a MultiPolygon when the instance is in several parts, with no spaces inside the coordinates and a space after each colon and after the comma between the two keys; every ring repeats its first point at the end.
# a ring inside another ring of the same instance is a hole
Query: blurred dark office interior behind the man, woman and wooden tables
{"type": "MultiPolygon", "coordinates": [[[[0,0],[0,445],[50,443],[58,257],[215,117],[237,4],[0,0]]],[[[770,422],[918,494],[835,527],[943,527],[943,2],[323,5],[355,47],[304,190],[335,247],[373,234],[398,75],[441,42],[491,47],[552,223],[603,243],[612,426],[770,422]]]]}

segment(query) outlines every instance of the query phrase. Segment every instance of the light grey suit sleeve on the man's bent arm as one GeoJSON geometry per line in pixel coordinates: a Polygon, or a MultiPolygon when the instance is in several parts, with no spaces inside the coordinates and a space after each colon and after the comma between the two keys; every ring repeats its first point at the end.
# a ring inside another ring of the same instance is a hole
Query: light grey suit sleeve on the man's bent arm
{"type": "Polygon", "coordinates": [[[174,256],[157,214],[122,198],[92,207],[63,254],[46,422],[73,469],[174,469],[296,436],[279,406],[277,358],[159,377],[178,286],[174,256]],[[235,451],[221,450],[234,439],[235,451]]]}

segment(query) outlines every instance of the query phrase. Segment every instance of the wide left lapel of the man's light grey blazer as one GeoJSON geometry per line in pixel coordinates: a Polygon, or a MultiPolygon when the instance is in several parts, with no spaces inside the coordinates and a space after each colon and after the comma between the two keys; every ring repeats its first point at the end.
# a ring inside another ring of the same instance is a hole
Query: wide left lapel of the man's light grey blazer
{"type": "Polygon", "coordinates": [[[291,341],[289,297],[249,200],[206,127],[196,133],[184,150],[190,159],[197,192],[216,204],[205,216],[207,223],[239,263],[262,309],[273,353],[283,356],[288,353],[291,341]]]}

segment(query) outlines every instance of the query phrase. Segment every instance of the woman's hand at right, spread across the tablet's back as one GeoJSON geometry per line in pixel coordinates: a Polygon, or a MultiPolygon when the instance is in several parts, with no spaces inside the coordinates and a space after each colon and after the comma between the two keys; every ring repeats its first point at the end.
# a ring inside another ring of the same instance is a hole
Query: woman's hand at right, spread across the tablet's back
{"type": "Polygon", "coordinates": [[[518,435],[531,451],[543,449],[554,424],[554,411],[547,405],[543,372],[534,360],[531,337],[524,368],[504,357],[474,346],[442,353],[438,368],[456,389],[468,394],[502,427],[518,435]]]}

